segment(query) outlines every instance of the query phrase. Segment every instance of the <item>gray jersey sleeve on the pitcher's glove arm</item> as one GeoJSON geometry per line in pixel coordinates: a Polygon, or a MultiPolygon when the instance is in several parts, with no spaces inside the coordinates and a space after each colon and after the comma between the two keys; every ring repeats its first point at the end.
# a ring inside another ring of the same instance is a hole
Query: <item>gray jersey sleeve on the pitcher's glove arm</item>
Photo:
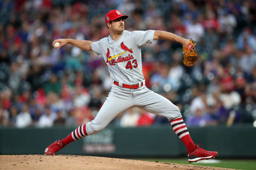
{"type": "Polygon", "coordinates": [[[152,43],[154,38],[154,30],[134,31],[135,39],[138,47],[142,47],[146,43],[152,43]]]}

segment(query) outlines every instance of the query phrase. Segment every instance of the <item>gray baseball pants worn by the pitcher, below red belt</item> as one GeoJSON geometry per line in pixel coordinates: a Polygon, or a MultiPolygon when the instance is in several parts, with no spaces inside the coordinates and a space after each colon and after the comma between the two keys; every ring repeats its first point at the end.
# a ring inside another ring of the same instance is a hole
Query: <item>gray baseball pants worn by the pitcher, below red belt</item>
{"type": "Polygon", "coordinates": [[[177,106],[145,85],[138,89],[127,89],[112,84],[100,111],[94,120],[86,123],[87,134],[103,130],[119,113],[131,107],[139,107],[147,112],[165,116],[169,121],[182,117],[177,106]]]}

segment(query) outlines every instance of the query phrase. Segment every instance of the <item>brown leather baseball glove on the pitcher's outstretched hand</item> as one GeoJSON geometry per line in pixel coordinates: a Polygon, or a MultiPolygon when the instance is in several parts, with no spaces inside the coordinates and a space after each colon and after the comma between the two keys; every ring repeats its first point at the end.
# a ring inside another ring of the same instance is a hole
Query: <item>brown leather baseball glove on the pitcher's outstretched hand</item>
{"type": "Polygon", "coordinates": [[[193,39],[190,39],[189,44],[182,49],[183,63],[188,67],[193,66],[199,58],[196,53],[195,45],[193,39]]]}

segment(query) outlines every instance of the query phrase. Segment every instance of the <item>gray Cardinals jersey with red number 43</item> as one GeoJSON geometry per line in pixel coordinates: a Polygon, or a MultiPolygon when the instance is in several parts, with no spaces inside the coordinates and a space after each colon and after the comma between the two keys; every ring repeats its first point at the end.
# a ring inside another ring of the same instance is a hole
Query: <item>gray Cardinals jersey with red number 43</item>
{"type": "Polygon", "coordinates": [[[141,47],[153,42],[154,32],[124,30],[123,35],[115,41],[109,35],[92,43],[92,50],[103,56],[111,79],[121,84],[136,84],[144,80],[141,47]]]}

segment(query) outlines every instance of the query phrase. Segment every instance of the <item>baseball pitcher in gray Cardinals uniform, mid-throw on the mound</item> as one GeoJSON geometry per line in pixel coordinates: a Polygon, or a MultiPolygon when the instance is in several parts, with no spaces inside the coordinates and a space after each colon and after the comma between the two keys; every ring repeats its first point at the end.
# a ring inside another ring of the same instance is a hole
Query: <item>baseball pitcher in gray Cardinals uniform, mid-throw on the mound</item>
{"type": "Polygon", "coordinates": [[[189,163],[214,158],[218,152],[207,151],[195,145],[183,122],[179,108],[170,100],[149,90],[145,86],[142,74],[141,48],[146,43],[152,43],[157,39],[178,42],[183,46],[183,63],[186,66],[193,66],[198,58],[194,41],[166,31],[126,31],[124,30],[124,20],[127,18],[128,16],[123,15],[119,10],[109,11],[105,16],[105,22],[110,35],[96,42],[75,39],[53,41],[53,45],[59,43],[58,49],[66,44],[71,44],[102,55],[108,65],[113,84],[105,103],[94,120],[79,126],[66,138],[53,142],[45,149],[45,155],[54,155],[68,143],[101,131],[126,109],[139,107],[147,112],[165,116],[170,121],[172,129],[187,147],[189,163]],[[118,105],[116,105],[117,103],[118,105]]]}

